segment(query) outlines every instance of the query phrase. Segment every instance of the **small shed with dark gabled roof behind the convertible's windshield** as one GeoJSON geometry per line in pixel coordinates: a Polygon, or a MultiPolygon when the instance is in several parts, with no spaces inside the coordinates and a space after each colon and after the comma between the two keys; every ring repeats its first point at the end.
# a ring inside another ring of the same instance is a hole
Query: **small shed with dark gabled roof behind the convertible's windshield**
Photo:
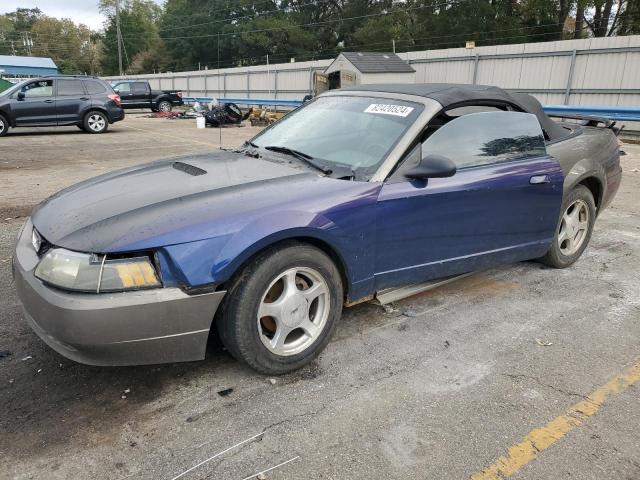
{"type": "Polygon", "coordinates": [[[416,71],[395,53],[342,52],[326,68],[329,89],[370,83],[415,83],[416,71]],[[352,78],[350,78],[352,77],[352,78]]]}

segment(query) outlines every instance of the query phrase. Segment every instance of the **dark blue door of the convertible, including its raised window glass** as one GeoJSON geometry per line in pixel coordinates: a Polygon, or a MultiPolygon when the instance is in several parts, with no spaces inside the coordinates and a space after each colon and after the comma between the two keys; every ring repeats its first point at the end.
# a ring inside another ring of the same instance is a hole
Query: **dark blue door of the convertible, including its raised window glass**
{"type": "Polygon", "coordinates": [[[563,174],[534,115],[471,113],[418,143],[383,185],[376,215],[376,288],[420,283],[542,256],[553,238],[563,174]],[[428,154],[449,178],[407,180],[428,154]]]}

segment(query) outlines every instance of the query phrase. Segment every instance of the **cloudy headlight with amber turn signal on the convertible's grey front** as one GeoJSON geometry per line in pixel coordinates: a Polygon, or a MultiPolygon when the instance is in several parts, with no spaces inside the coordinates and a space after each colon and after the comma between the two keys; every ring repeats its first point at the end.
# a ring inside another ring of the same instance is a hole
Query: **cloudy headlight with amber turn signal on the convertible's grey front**
{"type": "Polygon", "coordinates": [[[116,292],[160,287],[153,264],[147,257],[114,258],[49,250],[36,267],[35,276],[43,282],[79,292],[116,292]]]}

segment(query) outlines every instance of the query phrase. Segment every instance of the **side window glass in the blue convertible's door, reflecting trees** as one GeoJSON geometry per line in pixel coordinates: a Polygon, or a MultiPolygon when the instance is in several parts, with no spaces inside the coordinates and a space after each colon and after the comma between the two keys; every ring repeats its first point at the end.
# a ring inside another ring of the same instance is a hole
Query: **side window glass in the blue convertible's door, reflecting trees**
{"type": "Polygon", "coordinates": [[[508,162],[546,154],[535,115],[519,112],[471,113],[438,128],[422,154],[449,157],[458,168],[508,162]]]}

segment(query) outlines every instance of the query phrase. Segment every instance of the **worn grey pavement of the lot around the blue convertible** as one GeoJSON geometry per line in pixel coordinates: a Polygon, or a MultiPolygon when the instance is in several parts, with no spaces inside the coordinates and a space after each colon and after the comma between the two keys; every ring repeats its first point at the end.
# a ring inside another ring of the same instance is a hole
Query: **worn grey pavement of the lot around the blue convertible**
{"type": "MultiPolygon", "coordinates": [[[[102,171],[217,148],[217,130],[129,115],[107,135],[0,143],[0,478],[171,480],[240,442],[180,478],[288,460],[266,478],[469,478],[640,360],[639,146],[573,267],[520,263],[347,309],[316,362],[272,381],[216,346],[196,363],[76,364],[26,326],[11,285],[13,217],[102,171]]],[[[640,478],[639,400],[637,385],[611,396],[513,478],[640,478]]]]}

